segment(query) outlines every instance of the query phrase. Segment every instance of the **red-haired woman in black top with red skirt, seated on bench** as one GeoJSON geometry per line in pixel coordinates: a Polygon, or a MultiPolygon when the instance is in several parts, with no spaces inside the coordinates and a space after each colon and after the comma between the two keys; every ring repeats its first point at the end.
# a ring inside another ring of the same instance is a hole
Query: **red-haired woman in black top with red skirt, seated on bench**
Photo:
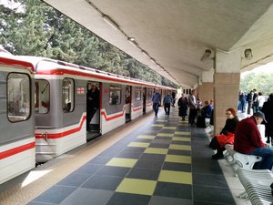
{"type": "Polygon", "coordinates": [[[228,108],[226,115],[225,127],[220,132],[220,135],[211,139],[208,145],[209,148],[217,150],[217,153],[211,157],[212,159],[224,159],[223,151],[225,150],[225,145],[234,144],[234,133],[239,120],[234,108],[228,108]]]}

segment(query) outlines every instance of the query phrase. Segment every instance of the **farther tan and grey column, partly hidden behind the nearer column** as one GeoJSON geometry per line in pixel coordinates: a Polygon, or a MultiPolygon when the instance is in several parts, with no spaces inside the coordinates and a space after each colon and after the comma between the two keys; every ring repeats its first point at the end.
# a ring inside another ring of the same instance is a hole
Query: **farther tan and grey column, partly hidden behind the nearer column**
{"type": "Polygon", "coordinates": [[[199,80],[198,87],[198,97],[204,103],[206,100],[209,102],[210,99],[214,98],[213,94],[213,76],[214,76],[214,68],[211,68],[208,71],[202,72],[202,78],[199,80]]]}

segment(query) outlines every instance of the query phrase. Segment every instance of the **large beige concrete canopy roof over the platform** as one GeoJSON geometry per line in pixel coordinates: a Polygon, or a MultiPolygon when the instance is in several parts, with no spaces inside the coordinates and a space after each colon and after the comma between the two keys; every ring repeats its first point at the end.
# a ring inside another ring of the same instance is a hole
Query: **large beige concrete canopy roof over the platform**
{"type": "Polygon", "coordinates": [[[273,61],[273,0],[44,2],[184,87],[194,87],[202,72],[214,67],[217,50],[241,49],[241,71],[273,61]],[[135,38],[135,46],[128,37],[135,38]],[[247,48],[250,60],[244,55],[247,48]],[[209,59],[201,60],[207,49],[209,59]]]}

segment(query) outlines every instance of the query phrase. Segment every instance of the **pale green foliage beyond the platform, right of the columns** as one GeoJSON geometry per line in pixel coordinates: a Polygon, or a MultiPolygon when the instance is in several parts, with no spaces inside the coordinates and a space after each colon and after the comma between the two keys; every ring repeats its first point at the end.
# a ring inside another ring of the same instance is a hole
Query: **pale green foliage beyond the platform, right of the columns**
{"type": "Polygon", "coordinates": [[[272,84],[272,81],[273,74],[250,72],[241,78],[240,89],[248,93],[251,89],[256,88],[258,92],[268,96],[270,93],[273,93],[273,87],[268,86],[272,84]]]}

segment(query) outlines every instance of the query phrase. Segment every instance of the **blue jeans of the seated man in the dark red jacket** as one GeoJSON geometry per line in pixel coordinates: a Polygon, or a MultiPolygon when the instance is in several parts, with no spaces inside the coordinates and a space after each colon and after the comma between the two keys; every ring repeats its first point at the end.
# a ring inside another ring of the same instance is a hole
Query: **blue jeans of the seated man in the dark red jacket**
{"type": "Polygon", "coordinates": [[[273,166],[273,149],[257,148],[248,153],[248,155],[257,155],[263,159],[254,165],[254,169],[272,169],[273,166]]]}

